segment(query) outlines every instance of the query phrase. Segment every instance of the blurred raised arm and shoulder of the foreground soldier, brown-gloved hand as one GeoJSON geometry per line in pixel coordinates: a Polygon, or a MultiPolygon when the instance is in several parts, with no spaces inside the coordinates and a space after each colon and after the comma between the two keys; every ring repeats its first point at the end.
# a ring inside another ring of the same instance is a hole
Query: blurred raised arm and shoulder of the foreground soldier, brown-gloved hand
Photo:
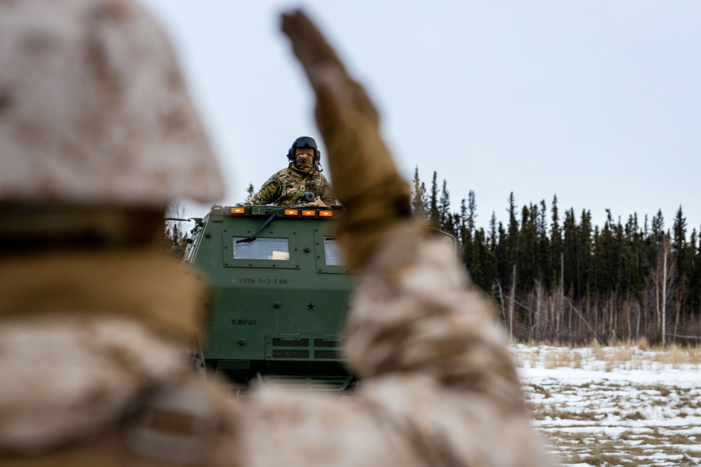
{"type": "Polygon", "coordinates": [[[362,384],[352,398],[268,392],[243,401],[243,464],[552,465],[493,310],[451,247],[411,217],[365,91],[303,13],[284,15],[283,31],[317,96],[346,206],[338,235],[360,274],[346,354],[362,384]]]}

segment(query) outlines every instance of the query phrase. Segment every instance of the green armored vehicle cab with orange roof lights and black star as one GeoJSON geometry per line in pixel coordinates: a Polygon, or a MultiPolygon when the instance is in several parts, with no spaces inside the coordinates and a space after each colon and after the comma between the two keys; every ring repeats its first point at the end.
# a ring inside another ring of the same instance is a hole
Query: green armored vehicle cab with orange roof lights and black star
{"type": "Polygon", "coordinates": [[[341,391],[341,326],[353,276],[331,225],[341,210],[212,207],[196,219],[182,267],[210,287],[210,321],[195,362],[236,393],[261,384],[341,391]],[[194,266],[194,267],[193,267],[194,266]]]}

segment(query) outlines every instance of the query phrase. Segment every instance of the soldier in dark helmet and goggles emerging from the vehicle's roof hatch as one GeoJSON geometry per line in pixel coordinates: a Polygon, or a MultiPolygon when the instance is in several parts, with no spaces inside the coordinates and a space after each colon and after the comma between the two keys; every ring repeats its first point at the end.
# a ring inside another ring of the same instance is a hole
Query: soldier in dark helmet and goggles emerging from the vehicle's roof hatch
{"type": "Polygon", "coordinates": [[[336,204],[331,185],[321,173],[320,156],[321,153],[313,138],[295,139],[290,150],[287,151],[290,165],[271,175],[258,193],[243,204],[292,206],[292,204],[308,203],[317,199],[329,207],[336,204]],[[313,196],[307,195],[309,198],[305,199],[304,193],[312,193],[313,196]]]}

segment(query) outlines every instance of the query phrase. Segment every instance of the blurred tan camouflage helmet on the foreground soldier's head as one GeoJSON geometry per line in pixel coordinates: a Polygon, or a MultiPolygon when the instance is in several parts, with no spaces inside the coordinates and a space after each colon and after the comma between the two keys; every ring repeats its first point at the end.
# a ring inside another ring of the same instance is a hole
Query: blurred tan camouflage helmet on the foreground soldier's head
{"type": "Polygon", "coordinates": [[[143,8],[0,1],[0,202],[222,195],[168,39],[143,8]]]}

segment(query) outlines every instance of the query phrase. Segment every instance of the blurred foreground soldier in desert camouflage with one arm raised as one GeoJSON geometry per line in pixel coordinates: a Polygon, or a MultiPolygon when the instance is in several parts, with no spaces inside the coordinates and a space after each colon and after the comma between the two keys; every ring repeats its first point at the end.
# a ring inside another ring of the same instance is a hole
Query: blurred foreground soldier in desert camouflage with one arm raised
{"type": "Polygon", "coordinates": [[[550,465],[489,305],[411,219],[367,95],[304,15],[283,30],[348,208],[362,389],[231,403],[193,375],[203,296],[154,239],[171,197],[221,184],[165,40],[126,0],[6,2],[2,466],[550,465]]]}

